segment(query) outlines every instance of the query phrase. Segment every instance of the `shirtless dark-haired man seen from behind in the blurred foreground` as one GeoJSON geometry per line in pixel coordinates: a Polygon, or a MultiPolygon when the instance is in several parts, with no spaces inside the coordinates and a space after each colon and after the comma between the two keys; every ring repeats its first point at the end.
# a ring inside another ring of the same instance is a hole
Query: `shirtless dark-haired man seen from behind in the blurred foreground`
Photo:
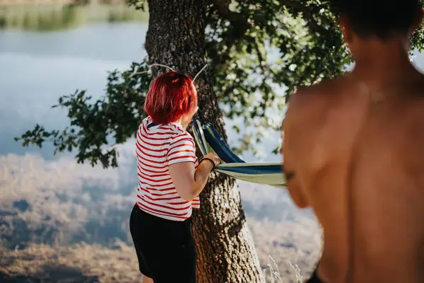
{"type": "Polygon", "coordinates": [[[324,249],[308,282],[424,282],[424,76],[408,59],[418,0],[341,0],[350,74],[290,98],[288,190],[324,249]]]}

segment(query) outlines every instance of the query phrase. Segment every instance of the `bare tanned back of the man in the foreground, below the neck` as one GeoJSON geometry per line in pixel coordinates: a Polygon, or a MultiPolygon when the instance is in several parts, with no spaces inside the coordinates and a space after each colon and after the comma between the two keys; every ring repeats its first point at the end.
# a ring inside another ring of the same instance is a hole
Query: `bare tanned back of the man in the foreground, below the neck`
{"type": "Polygon", "coordinates": [[[377,102],[353,78],[299,91],[284,124],[290,195],[324,230],[317,273],[424,282],[424,76],[413,71],[377,102]]]}

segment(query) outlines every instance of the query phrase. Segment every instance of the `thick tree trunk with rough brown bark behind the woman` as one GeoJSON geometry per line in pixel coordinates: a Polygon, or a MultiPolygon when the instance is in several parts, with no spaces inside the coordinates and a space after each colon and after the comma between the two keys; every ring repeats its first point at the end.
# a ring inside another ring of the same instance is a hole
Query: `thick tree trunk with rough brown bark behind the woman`
{"type": "MultiPolygon", "coordinates": [[[[146,51],[150,63],[165,64],[194,77],[206,64],[207,0],[148,0],[146,51]]],[[[166,71],[153,67],[153,74],[166,71]]],[[[206,69],[197,79],[199,114],[225,137],[222,112],[206,69]]],[[[223,175],[213,174],[193,214],[198,282],[264,282],[242,210],[240,191],[223,175]]],[[[163,272],[166,272],[164,270],[163,272]]]]}

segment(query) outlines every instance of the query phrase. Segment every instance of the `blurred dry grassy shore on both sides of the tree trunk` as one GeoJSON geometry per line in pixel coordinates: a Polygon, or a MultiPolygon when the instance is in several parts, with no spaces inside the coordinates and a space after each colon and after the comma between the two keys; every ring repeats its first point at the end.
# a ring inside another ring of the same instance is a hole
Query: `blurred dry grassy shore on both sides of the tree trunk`
{"type": "MultiPolygon", "coordinates": [[[[0,282],[139,282],[129,164],[111,171],[72,158],[0,156],[0,282]]],[[[281,189],[240,183],[240,191],[269,282],[297,282],[295,266],[308,277],[322,244],[310,212],[281,189]]]]}

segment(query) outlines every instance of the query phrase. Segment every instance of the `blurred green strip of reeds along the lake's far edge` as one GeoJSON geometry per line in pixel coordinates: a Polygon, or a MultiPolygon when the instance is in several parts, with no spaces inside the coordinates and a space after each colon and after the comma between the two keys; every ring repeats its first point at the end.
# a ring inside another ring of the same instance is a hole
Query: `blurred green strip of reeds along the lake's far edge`
{"type": "Polygon", "coordinates": [[[63,30],[86,23],[148,20],[148,13],[119,4],[24,4],[0,6],[0,28],[63,30]]]}

